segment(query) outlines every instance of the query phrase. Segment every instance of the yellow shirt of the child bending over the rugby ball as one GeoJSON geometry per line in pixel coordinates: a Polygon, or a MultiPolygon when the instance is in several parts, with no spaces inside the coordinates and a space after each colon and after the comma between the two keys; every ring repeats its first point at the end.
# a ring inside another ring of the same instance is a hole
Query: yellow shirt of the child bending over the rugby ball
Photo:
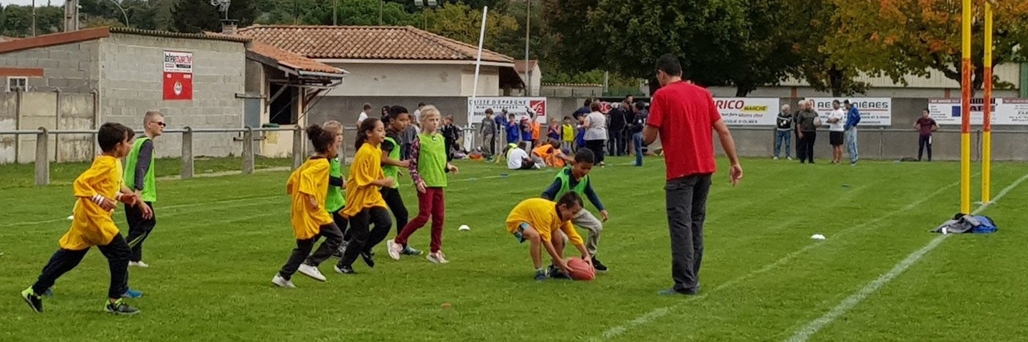
{"type": "Polygon", "coordinates": [[[573,244],[583,245],[582,236],[575,231],[571,218],[560,220],[557,215],[557,203],[552,200],[545,198],[522,200],[507,216],[507,231],[513,234],[521,223],[527,223],[535,228],[544,241],[550,240],[554,233],[561,230],[573,244]]]}

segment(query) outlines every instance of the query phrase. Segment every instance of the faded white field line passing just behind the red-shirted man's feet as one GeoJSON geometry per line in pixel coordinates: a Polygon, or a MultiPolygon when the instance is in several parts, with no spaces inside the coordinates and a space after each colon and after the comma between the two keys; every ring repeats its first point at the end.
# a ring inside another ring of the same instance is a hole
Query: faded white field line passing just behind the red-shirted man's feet
{"type": "MultiPolygon", "coordinates": [[[[859,224],[859,225],[852,226],[852,227],[846,228],[844,230],[841,230],[841,231],[835,233],[834,235],[832,235],[829,240],[834,240],[836,237],[839,237],[840,235],[842,235],[844,233],[847,233],[849,231],[853,231],[853,230],[856,230],[856,229],[860,229],[860,228],[864,228],[864,227],[867,227],[867,226],[874,225],[874,224],[876,224],[878,222],[881,222],[881,221],[883,221],[883,220],[885,220],[887,218],[892,217],[893,215],[896,215],[896,214],[900,214],[900,213],[909,212],[909,211],[913,210],[914,207],[917,207],[917,205],[920,205],[921,203],[927,201],[928,199],[930,199],[930,198],[932,198],[932,197],[934,197],[934,196],[943,193],[944,191],[947,191],[949,188],[955,187],[955,186],[957,186],[959,184],[960,184],[959,182],[950,184],[950,185],[948,185],[948,186],[946,186],[946,187],[944,187],[942,189],[935,190],[935,192],[932,192],[931,194],[928,194],[927,196],[921,197],[920,199],[918,199],[918,200],[916,200],[916,201],[908,204],[907,206],[904,206],[903,208],[889,212],[888,214],[879,216],[879,217],[875,218],[874,220],[871,220],[871,221],[865,222],[862,224],[859,224]]],[[[998,198],[998,196],[997,196],[997,198],[998,198]]],[[[809,251],[809,250],[811,250],[813,248],[821,245],[823,243],[825,243],[825,242],[824,241],[818,241],[818,242],[807,244],[807,245],[803,246],[802,249],[796,250],[796,251],[794,251],[794,252],[785,255],[784,257],[782,257],[781,259],[776,260],[773,263],[764,265],[764,267],[761,267],[760,269],[751,271],[751,272],[749,272],[749,273],[747,273],[747,274],[745,274],[743,276],[740,276],[740,277],[731,279],[729,281],[723,282],[723,283],[721,283],[717,288],[713,288],[710,291],[701,292],[699,295],[692,296],[692,297],[690,297],[690,298],[688,298],[686,300],[676,302],[675,304],[672,304],[672,305],[669,305],[669,306],[665,306],[665,307],[661,307],[661,308],[656,308],[656,309],[654,309],[654,310],[652,310],[650,312],[647,312],[646,314],[642,314],[642,315],[639,315],[639,316],[635,317],[632,320],[626,321],[625,324],[623,324],[621,326],[617,326],[617,327],[608,329],[605,332],[603,332],[603,335],[601,335],[599,337],[596,337],[596,338],[593,338],[592,341],[602,341],[602,340],[611,339],[611,338],[617,337],[617,336],[619,336],[621,334],[624,334],[629,329],[636,328],[636,327],[642,326],[642,325],[647,325],[647,324],[649,324],[649,322],[651,322],[653,320],[656,320],[656,319],[658,319],[658,318],[660,318],[662,316],[667,315],[668,313],[670,313],[671,311],[673,311],[677,306],[684,305],[684,304],[689,303],[691,301],[696,301],[696,300],[703,299],[707,295],[710,295],[712,293],[725,290],[725,289],[730,288],[730,287],[734,287],[735,284],[743,282],[746,279],[749,279],[749,278],[751,278],[754,276],[757,276],[757,275],[760,275],[762,273],[765,273],[765,272],[768,272],[770,270],[773,270],[775,268],[778,268],[779,266],[788,263],[790,261],[792,261],[797,256],[799,256],[799,255],[801,255],[801,254],[803,254],[803,253],[805,253],[805,252],[807,252],[807,251],[809,251]]]]}

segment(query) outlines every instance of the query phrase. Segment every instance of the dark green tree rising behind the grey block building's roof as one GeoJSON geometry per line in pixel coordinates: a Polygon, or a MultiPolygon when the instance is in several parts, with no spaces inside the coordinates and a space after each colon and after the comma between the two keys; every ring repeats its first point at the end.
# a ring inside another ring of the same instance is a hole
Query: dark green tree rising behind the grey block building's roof
{"type": "MultiPolygon", "coordinates": [[[[235,0],[228,7],[228,18],[238,21],[241,27],[250,26],[257,18],[255,0],[235,0]]],[[[177,32],[220,32],[224,13],[207,0],[178,0],[172,11],[173,29],[177,32]]]]}

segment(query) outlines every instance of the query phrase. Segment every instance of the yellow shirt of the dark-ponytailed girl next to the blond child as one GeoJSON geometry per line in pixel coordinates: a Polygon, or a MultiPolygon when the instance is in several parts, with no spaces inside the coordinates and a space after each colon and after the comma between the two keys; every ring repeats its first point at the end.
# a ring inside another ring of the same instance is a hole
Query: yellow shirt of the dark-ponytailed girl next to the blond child
{"type": "Polygon", "coordinates": [[[381,162],[382,150],[377,146],[364,143],[357,150],[354,163],[350,165],[350,178],[346,179],[346,206],[340,213],[342,217],[352,218],[369,207],[386,207],[379,187],[371,185],[371,182],[386,178],[381,162]]]}

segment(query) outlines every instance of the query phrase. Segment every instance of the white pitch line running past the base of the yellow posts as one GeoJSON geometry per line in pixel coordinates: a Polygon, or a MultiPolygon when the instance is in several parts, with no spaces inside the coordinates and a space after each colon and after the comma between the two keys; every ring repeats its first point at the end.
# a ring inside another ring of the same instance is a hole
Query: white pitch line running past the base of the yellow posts
{"type": "MultiPolygon", "coordinates": [[[[982,213],[982,211],[985,211],[985,208],[989,207],[989,205],[999,201],[999,199],[1002,198],[1004,195],[1006,195],[1007,192],[1009,192],[1014,188],[1017,188],[1025,180],[1028,180],[1028,175],[1022,176],[1020,179],[1014,182],[1014,184],[1011,184],[1008,187],[1004,188],[1002,191],[999,192],[999,194],[996,195],[995,198],[992,199],[992,202],[983,203],[981,206],[975,210],[975,212],[972,212],[971,215],[978,215],[979,213],[982,213]]],[[[915,263],[920,261],[922,257],[924,257],[926,254],[934,250],[937,246],[939,246],[939,244],[943,243],[943,241],[946,240],[947,237],[950,237],[950,235],[949,234],[939,235],[939,237],[931,239],[931,241],[929,241],[928,244],[925,244],[920,250],[914,251],[914,253],[911,253],[909,256],[907,256],[907,258],[905,258],[898,264],[893,266],[892,269],[890,269],[888,272],[882,274],[874,281],[871,281],[862,289],[860,289],[860,291],[857,291],[856,293],[847,297],[845,300],[839,303],[839,305],[836,305],[834,308],[832,308],[832,310],[824,313],[824,315],[821,315],[817,319],[811,320],[806,326],[804,326],[803,329],[796,331],[793,334],[793,337],[788,338],[787,341],[803,342],[809,339],[814,334],[817,334],[817,332],[820,331],[821,328],[824,328],[824,326],[832,324],[833,321],[836,320],[836,318],[839,318],[839,316],[846,313],[846,311],[852,309],[854,306],[856,306],[861,301],[867,299],[868,296],[871,296],[871,294],[874,294],[876,291],[878,291],[878,289],[881,289],[883,286],[885,286],[885,283],[889,282],[896,276],[900,276],[900,274],[903,274],[903,272],[906,271],[908,268],[910,268],[910,266],[913,266],[915,263]]]]}

